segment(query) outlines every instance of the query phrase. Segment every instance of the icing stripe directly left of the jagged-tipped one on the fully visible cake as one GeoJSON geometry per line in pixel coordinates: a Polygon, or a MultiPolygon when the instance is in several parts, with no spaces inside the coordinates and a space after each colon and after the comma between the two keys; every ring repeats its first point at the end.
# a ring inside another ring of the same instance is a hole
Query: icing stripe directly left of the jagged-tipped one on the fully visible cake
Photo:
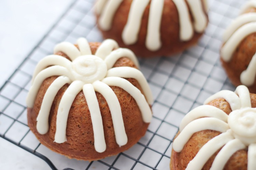
{"type": "Polygon", "coordinates": [[[40,134],[42,135],[46,134],[49,130],[48,118],[51,111],[53,100],[57,92],[62,86],[70,83],[71,83],[71,80],[68,77],[60,76],[57,79],[55,79],[53,83],[46,90],[43,101],[42,101],[41,109],[37,116],[37,131],[40,134]]]}

